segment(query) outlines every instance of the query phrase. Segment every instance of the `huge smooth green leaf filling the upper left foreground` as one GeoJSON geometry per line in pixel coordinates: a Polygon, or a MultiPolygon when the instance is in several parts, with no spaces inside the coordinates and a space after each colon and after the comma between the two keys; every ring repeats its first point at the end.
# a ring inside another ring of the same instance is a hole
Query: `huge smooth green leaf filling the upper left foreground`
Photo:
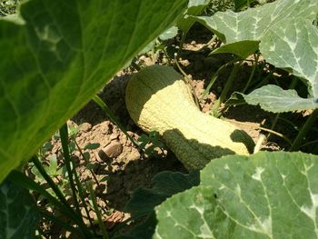
{"type": "Polygon", "coordinates": [[[30,0],[0,19],[0,182],[183,12],[185,0],[30,0]]]}

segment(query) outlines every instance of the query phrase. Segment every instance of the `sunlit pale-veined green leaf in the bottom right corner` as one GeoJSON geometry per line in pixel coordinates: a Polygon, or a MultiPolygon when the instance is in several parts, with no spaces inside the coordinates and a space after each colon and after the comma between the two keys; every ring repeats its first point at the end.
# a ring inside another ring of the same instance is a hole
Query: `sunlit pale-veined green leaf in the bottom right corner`
{"type": "Polygon", "coordinates": [[[230,155],[156,207],[155,238],[318,238],[318,156],[230,155]]]}

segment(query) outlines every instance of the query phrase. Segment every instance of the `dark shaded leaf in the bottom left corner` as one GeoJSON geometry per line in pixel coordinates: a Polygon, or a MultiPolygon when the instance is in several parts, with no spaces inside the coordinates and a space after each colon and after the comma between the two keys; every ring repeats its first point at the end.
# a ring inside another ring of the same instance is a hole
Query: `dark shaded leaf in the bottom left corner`
{"type": "Polygon", "coordinates": [[[40,220],[31,194],[8,180],[0,184],[0,238],[33,238],[40,220]]]}

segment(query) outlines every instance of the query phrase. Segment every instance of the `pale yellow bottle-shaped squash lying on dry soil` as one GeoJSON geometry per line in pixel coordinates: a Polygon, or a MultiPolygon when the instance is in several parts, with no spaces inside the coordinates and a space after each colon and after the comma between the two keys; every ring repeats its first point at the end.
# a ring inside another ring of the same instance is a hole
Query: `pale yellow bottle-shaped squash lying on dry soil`
{"type": "Polygon", "coordinates": [[[188,170],[226,154],[249,154],[252,138],[233,124],[205,115],[173,68],[153,65],[132,75],[125,103],[134,123],[157,131],[188,170]]]}

